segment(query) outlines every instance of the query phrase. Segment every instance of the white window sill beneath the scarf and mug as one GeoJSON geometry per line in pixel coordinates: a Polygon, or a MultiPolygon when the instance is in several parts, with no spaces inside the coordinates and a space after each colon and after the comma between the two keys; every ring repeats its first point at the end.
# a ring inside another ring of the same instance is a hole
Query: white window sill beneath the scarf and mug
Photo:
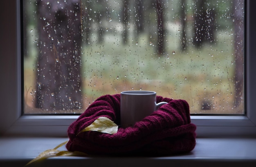
{"type": "MultiPolygon", "coordinates": [[[[21,166],[68,138],[1,137],[0,166],[21,166]]],[[[62,156],[48,158],[30,166],[75,167],[166,167],[166,166],[256,166],[256,138],[197,138],[189,154],[165,157],[62,156]]],[[[65,146],[59,150],[65,150],[65,146]]]]}

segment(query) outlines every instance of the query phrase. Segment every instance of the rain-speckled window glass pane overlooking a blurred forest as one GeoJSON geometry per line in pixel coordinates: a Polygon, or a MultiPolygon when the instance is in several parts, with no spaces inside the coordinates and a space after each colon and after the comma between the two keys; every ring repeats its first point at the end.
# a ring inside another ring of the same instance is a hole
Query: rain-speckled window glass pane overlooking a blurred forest
{"type": "Polygon", "coordinates": [[[244,114],[244,0],[23,0],[24,113],[127,90],[244,114]]]}

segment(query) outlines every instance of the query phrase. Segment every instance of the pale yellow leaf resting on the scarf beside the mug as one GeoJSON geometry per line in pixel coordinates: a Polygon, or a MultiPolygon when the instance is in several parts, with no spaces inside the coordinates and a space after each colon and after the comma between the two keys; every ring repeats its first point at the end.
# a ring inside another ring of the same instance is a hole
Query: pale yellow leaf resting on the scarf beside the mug
{"type": "Polygon", "coordinates": [[[85,129],[80,131],[78,134],[84,131],[99,131],[107,134],[115,134],[117,133],[117,130],[118,130],[117,124],[115,124],[109,118],[101,116],[97,120],[92,122],[91,125],[89,125],[88,127],[85,127],[85,129]]]}

